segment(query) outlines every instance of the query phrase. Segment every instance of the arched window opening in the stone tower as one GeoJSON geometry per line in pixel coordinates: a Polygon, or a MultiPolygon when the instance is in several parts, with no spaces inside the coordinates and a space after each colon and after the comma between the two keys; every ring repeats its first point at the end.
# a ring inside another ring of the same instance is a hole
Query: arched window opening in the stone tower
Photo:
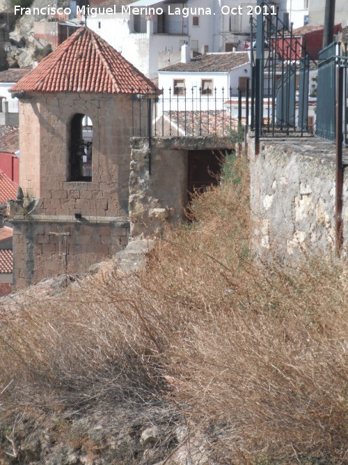
{"type": "Polygon", "coordinates": [[[85,114],[75,114],[70,123],[69,181],[92,181],[93,123],[85,114]]]}

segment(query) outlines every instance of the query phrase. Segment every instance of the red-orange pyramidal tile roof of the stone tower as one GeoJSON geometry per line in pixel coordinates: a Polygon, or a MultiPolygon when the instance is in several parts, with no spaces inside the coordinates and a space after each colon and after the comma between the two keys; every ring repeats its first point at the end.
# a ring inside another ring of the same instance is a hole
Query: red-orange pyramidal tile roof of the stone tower
{"type": "Polygon", "coordinates": [[[155,93],[156,86],[97,33],[81,27],[10,92],[155,93]],[[139,92],[140,91],[140,92],[139,92]]]}

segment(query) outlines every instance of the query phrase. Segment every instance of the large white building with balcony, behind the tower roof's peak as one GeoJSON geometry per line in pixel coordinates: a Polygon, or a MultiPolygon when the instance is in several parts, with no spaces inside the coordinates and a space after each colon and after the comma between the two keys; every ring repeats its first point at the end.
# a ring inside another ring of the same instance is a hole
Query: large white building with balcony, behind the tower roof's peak
{"type": "Polygon", "coordinates": [[[136,68],[154,78],[164,64],[163,56],[159,61],[159,55],[166,54],[171,63],[180,61],[184,43],[201,53],[244,49],[256,3],[256,0],[246,3],[239,0],[177,0],[176,3],[173,0],[109,0],[87,16],[87,24],[136,68]],[[114,3],[117,3],[115,8],[114,3]],[[108,7],[113,8],[112,14],[106,13],[108,7]]]}

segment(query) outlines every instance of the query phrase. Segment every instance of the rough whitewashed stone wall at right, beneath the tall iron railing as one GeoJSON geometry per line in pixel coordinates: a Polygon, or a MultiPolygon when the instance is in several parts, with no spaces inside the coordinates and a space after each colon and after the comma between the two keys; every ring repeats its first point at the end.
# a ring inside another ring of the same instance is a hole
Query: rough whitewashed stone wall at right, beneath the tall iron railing
{"type": "MultiPolygon", "coordinates": [[[[306,251],[333,253],[335,145],[317,137],[264,140],[260,155],[253,146],[251,139],[251,211],[258,252],[285,260],[306,251]]],[[[342,216],[347,252],[347,179],[342,216]]]]}

